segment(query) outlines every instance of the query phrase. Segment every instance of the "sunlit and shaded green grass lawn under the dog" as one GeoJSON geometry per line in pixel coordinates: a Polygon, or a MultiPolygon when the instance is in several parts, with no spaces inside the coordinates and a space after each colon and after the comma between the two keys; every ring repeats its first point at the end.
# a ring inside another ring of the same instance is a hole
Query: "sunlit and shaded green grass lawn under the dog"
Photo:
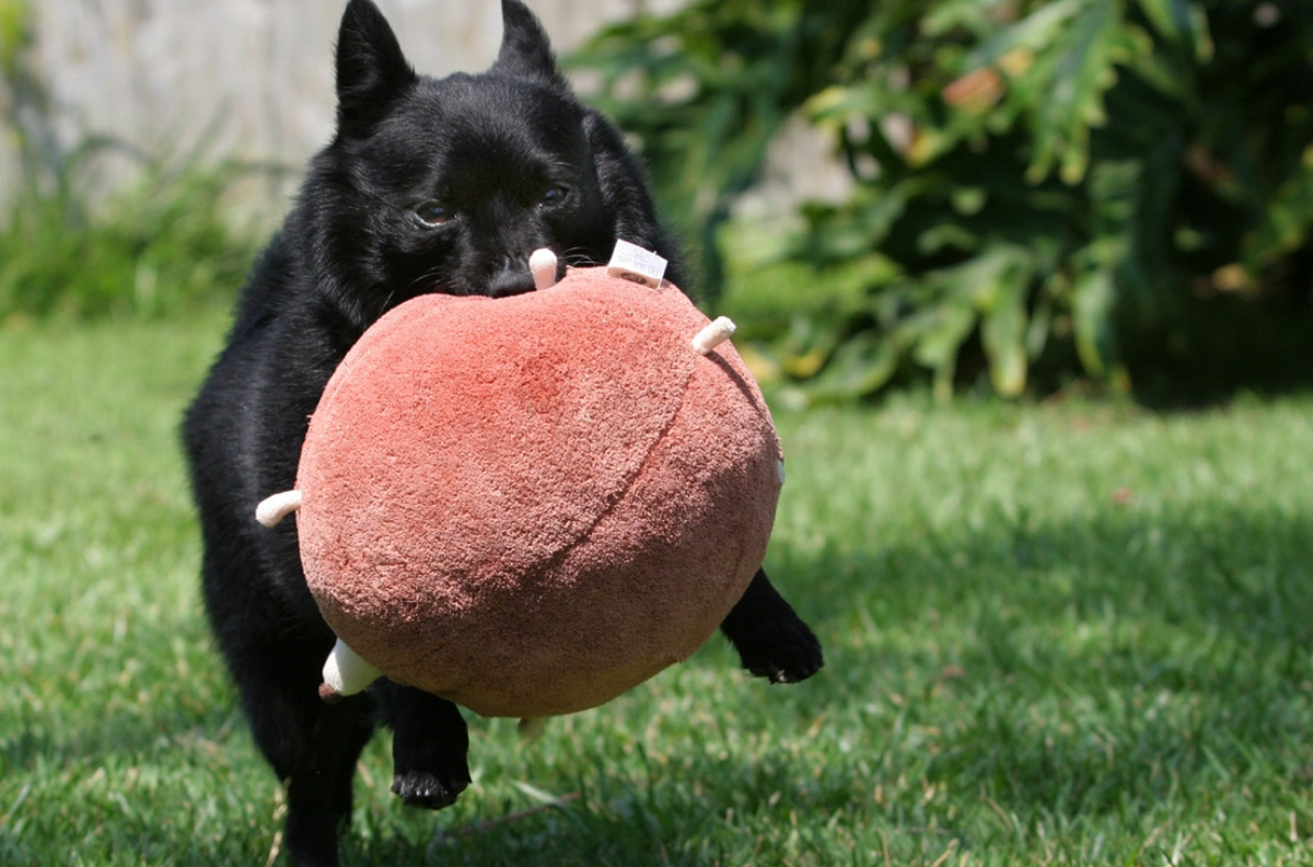
{"type": "MultiPolygon", "coordinates": [[[[0,334],[3,864],[281,849],[176,448],[223,328],[0,334]]],[[[439,814],[378,738],[349,864],[1313,863],[1313,399],[777,422],[768,566],[827,667],[767,687],[714,638],[537,744],[473,720],[439,814]]]]}

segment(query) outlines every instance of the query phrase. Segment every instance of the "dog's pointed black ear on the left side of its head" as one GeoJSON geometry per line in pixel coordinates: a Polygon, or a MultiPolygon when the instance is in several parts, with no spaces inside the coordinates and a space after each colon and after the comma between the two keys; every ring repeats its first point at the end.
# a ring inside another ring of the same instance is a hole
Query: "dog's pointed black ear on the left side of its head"
{"type": "Polygon", "coordinates": [[[337,130],[370,129],[418,76],[372,0],[351,0],[337,32],[337,130]]]}

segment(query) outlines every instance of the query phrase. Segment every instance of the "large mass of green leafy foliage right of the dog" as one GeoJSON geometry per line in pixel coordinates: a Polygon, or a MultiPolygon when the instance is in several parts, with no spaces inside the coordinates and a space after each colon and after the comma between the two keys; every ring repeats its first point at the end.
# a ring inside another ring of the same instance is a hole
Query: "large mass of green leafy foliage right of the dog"
{"type": "Polygon", "coordinates": [[[1313,370],[1304,0],[696,0],[578,63],[704,244],[789,117],[831,135],[851,194],[739,276],[806,284],[755,332],[809,399],[1313,370]]]}

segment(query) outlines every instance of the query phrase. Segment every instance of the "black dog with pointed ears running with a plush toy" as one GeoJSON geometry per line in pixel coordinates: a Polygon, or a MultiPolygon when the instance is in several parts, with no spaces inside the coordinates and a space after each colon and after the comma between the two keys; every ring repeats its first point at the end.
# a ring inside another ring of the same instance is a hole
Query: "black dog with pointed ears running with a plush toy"
{"type": "MultiPolygon", "coordinates": [[[[295,478],[306,423],[334,368],[390,307],[427,292],[533,289],[529,254],[604,263],[617,238],[675,260],[620,134],[582,106],[538,21],[503,0],[500,54],[482,75],[418,76],[369,0],[337,41],[337,133],[264,252],[184,436],[205,541],[206,611],[255,740],[288,784],[295,864],[337,863],[352,775],[376,719],[394,730],[393,791],[441,808],[469,784],[469,737],[449,701],[379,680],[319,700],[334,634],[315,607],[294,522],[255,522],[295,478]]],[[[559,276],[559,275],[558,275],[559,276]]],[[[683,276],[671,275],[678,284],[683,276]]],[[[822,665],[811,631],[758,573],[722,627],[743,666],[794,682],[822,665]]]]}

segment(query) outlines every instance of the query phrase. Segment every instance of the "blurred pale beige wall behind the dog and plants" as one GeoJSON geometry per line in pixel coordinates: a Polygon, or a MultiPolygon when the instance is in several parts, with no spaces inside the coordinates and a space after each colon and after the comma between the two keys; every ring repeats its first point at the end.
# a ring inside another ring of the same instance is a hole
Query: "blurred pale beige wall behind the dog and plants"
{"type": "MultiPolygon", "coordinates": [[[[499,0],[377,3],[420,72],[479,71],[496,54],[499,0]]],[[[608,21],[668,11],[681,0],[528,3],[565,53],[608,21]]],[[[256,214],[277,217],[295,190],[299,167],[332,134],[332,46],[345,0],[32,4],[33,60],[50,88],[64,147],[109,135],[146,154],[200,152],[280,167],[243,187],[256,214]]],[[[0,201],[16,181],[12,146],[11,137],[0,135],[0,201]]],[[[765,183],[744,204],[773,211],[801,197],[842,196],[848,179],[830,150],[798,125],[775,148],[765,183]]],[[[130,169],[129,159],[110,160],[109,180],[130,169]]]]}

